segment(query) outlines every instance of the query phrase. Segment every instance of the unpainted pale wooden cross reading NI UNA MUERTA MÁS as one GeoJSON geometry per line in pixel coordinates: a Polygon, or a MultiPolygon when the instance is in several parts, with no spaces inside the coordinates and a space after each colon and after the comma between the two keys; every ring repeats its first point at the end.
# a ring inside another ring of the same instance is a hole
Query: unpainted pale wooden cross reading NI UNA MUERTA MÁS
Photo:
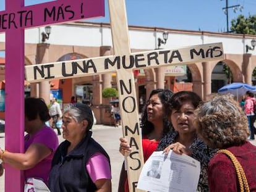
{"type": "Polygon", "coordinates": [[[136,188],[143,166],[143,152],[132,70],[221,60],[224,58],[223,46],[214,43],[131,53],[125,2],[108,0],[108,3],[114,56],[27,65],[25,73],[27,81],[38,82],[116,72],[122,131],[132,146],[132,152],[126,157],[129,190],[142,191],[136,188]]]}

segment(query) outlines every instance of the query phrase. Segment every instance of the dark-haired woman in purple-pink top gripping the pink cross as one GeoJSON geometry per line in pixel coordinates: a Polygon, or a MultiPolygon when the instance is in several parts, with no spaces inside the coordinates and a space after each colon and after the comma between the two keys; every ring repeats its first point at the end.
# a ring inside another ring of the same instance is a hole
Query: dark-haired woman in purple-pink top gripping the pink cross
{"type": "Polygon", "coordinates": [[[25,153],[0,149],[4,163],[24,170],[25,180],[41,178],[48,183],[54,152],[58,148],[58,136],[45,122],[50,119],[48,107],[43,99],[25,99],[25,153]]]}

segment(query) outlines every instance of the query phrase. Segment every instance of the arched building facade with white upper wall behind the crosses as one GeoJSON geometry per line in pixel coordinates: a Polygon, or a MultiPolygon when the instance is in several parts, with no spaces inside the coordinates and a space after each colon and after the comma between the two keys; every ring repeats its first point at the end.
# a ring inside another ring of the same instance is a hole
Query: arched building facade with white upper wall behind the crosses
{"type": "MultiPolygon", "coordinates": [[[[26,30],[25,65],[113,55],[111,29],[108,23],[73,22],[54,25],[52,28],[47,43],[41,43],[40,35],[38,35],[41,34],[43,28],[26,30]]],[[[207,98],[212,92],[213,71],[220,63],[228,65],[234,82],[252,84],[252,72],[256,67],[256,51],[245,52],[245,45],[250,44],[250,40],[256,36],[132,26],[129,27],[131,52],[156,49],[157,38],[161,36],[163,31],[168,31],[171,39],[167,41],[164,48],[223,43],[223,61],[187,65],[192,77],[191,86],[182,89],[191,89],[203,99],[207,98]]],[[[1,35],[0,49],[5,49],[4,38],[1,35]]],[[[155,88],[174,90],[176,86],[187,85],[176,82],[176,75],[179,72],[170,75],[166,73],[166,70],[166,67],[161,67],[140,70],[139,73],[135,74],[138,106],[140,98],[147,99],[151,90],[155,88]]],[[[4,72],[2,71],[0,80],[4,80],[4,72]]],[[[226,80],[223,79],[223,82],[225,84],[226,80]]],[[[63,106],[69,104],[72,96],[76,96],[77,101],[90,99],[94,105],[93,111],[97,122],[103,123],[104,108],[108,105],[109,100],[103,98],[101,93],[104,88],[115,86],[115,75],[106,73],[91,77],[30,83],[30,96],[44,98],[49,104],[51,90],[61,90],[63,106]]]]}

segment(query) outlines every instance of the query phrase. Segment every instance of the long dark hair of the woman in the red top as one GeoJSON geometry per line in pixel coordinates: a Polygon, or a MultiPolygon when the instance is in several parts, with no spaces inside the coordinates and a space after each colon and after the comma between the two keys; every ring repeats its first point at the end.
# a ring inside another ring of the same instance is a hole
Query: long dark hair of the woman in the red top
{"type": "MultiPolygon", "coordinates": [[[[169,98],[171,98],[171,96],[173,95],[173,91],[171,91],[171,90],[164,90],[164,89],[156,89],[156,90],[151,91],[149,99],[154,94],[158,94],[158,97],[160,98],[161,103],[163,104],[163,106],[165,106],[167,104],[169,98]]],[[[147,106],[148,106],[148,104],[147,103],[148,102],[146,102],[145,106],[143,107],[142,117],[141,117],[141,120],[140,120],[140,127],[142,128],[142,134],[143,135],[148,135],[149,133],[151,133],[151,131],[154,130],[153,123],[148,121],[148,114],[147,114],[147,106]]],[[[164,109],[163,109],[163,111],[164,111],[164,116],[163,116],[163,135],[166,135],[171,130],[173,130],[173,125],[169,121],[168,115],[166,115],[164,109]]]]}

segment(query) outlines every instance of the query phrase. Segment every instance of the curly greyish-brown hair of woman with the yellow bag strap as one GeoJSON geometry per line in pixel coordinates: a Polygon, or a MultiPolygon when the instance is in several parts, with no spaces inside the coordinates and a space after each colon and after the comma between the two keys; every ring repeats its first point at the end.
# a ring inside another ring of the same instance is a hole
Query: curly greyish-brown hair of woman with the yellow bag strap
{"type": "Polygon", "coordinates": [[[231,94],[214,96],[195,113],[197,134],[210,148],[239,146],[249,136],[247,117],[231,94]]]}

